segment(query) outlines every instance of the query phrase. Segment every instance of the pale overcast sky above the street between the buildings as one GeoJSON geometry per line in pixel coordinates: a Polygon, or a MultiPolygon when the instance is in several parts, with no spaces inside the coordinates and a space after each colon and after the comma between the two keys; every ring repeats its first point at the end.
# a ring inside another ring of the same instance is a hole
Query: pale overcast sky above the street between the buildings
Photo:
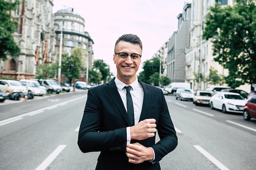
{"type": "MultiPolygon", "coordinates": [[[[138,35],[143,44],[141,61],[154,53],[177,31],[177,16],[191,0],[53,0],[53,12],[71,7],[85,19],[94,44],[94,59],[103,59],[116,75],[113,53],[123,34],[138,35]]],[[[142,71],[142,64],[139,71],[142,71]]]]}

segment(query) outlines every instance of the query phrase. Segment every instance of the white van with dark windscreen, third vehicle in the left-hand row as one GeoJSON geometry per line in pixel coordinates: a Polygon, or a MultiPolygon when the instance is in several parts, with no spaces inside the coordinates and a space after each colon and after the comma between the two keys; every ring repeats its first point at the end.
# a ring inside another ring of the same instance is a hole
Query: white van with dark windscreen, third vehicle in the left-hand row
{"type": "Polygon", "coordinates": [[[61,93],[61,86],[55,82],[53,79],[40,79],[38,82],[42,85],[45,86],[46,90],[48,93],[56,93],[59,94],[61,93]]]}

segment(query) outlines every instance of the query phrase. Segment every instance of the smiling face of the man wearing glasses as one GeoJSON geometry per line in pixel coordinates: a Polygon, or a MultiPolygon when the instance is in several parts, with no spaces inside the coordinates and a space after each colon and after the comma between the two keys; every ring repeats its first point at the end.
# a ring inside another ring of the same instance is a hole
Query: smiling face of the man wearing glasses
{"type": "MultiPolygon", "coordinates": [[[[120,41],[115,47],[115,53],[128,53],[128,54],[140,54],[142,50],[139,44],[132,44],[130,42],[120,41]]],[[[136,73],[139,69],[139,64],[141,63],[141,59],[135,61],[132,60],[130,55],[126,58],[126,60],[122,60],[118,54],[114,54],[113,61],[117,67],[117,78],[124,82],[125,84],[130,84],[135,81],[136,73]]]]}

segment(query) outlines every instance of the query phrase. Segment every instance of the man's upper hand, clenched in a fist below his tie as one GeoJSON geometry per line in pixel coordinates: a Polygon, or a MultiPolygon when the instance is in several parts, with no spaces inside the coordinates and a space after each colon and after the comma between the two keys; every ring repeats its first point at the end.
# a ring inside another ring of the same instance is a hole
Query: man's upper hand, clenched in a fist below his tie
{"type": "Polygon", "coordinates": [[[135,126],[130,127],[131,139],[143,140],[155,136],[157,129],[155,128],[155,119],[145,119],[135,126]]]}

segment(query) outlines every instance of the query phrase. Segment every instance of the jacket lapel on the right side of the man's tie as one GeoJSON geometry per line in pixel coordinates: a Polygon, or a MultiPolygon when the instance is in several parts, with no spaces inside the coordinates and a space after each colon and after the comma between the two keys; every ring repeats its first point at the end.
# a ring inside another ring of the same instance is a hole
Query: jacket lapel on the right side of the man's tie
{"type": "Polygon", "coordinates": [[[139,121],[141,121],[141,120],[145,119],[146,113],[148,112],[149,104],[151,101],[151,92],[148,89],[146,83],[143,83],[140,80],[138,80],[138,81],[144,90],[143,105],[142,105],[141,115],[139,117],[139,121]]]}

